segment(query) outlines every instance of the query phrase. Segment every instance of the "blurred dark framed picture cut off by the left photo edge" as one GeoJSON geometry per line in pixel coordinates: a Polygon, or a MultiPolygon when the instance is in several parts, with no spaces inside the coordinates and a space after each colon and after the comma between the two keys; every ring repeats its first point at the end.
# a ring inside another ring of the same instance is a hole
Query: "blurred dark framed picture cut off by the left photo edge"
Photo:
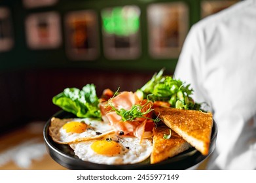
{"type": "Polygon", "coordinates": [[[10,10],[0,7],[0,52],[9,51],[14,44],[10,10]]]}

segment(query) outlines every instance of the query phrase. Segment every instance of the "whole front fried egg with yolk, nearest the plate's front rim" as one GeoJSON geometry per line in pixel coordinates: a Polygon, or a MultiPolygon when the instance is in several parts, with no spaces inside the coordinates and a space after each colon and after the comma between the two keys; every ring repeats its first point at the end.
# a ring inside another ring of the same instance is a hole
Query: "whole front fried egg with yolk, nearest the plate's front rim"
{"type": "MultiPolygon", "coordinates": [[[[107,135],[108,136],[108,135],[107,135]]],[[[107,139],[70,144],[75,155],[83,161],[107,165],[133,164],[149,158],[152,151],[152,139],[137,137],[118,137],[109,135],[107,139]]]]}

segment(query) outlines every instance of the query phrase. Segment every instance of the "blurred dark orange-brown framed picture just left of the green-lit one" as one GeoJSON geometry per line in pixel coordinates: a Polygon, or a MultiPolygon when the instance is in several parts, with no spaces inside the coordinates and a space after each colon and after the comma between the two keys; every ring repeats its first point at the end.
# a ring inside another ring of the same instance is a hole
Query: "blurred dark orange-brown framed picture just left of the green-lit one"
{"type": "Polygon", "coordinates": [[[69,12],[65,16],[66,53],[73,60],[93,60],[100,53],[98,17],[94,10],[69,12]]]}

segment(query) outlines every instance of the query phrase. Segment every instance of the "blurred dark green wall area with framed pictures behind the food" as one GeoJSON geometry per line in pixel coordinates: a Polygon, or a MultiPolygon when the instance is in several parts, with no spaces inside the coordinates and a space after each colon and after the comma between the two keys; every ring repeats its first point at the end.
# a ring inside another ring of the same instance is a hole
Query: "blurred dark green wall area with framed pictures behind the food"
{"type": "Polygon", "coordinates": [[[236,2],[0,0],[0,132],[50,118],[67,87],[101,95],[172,75],[192,24],[236,2]]]}

